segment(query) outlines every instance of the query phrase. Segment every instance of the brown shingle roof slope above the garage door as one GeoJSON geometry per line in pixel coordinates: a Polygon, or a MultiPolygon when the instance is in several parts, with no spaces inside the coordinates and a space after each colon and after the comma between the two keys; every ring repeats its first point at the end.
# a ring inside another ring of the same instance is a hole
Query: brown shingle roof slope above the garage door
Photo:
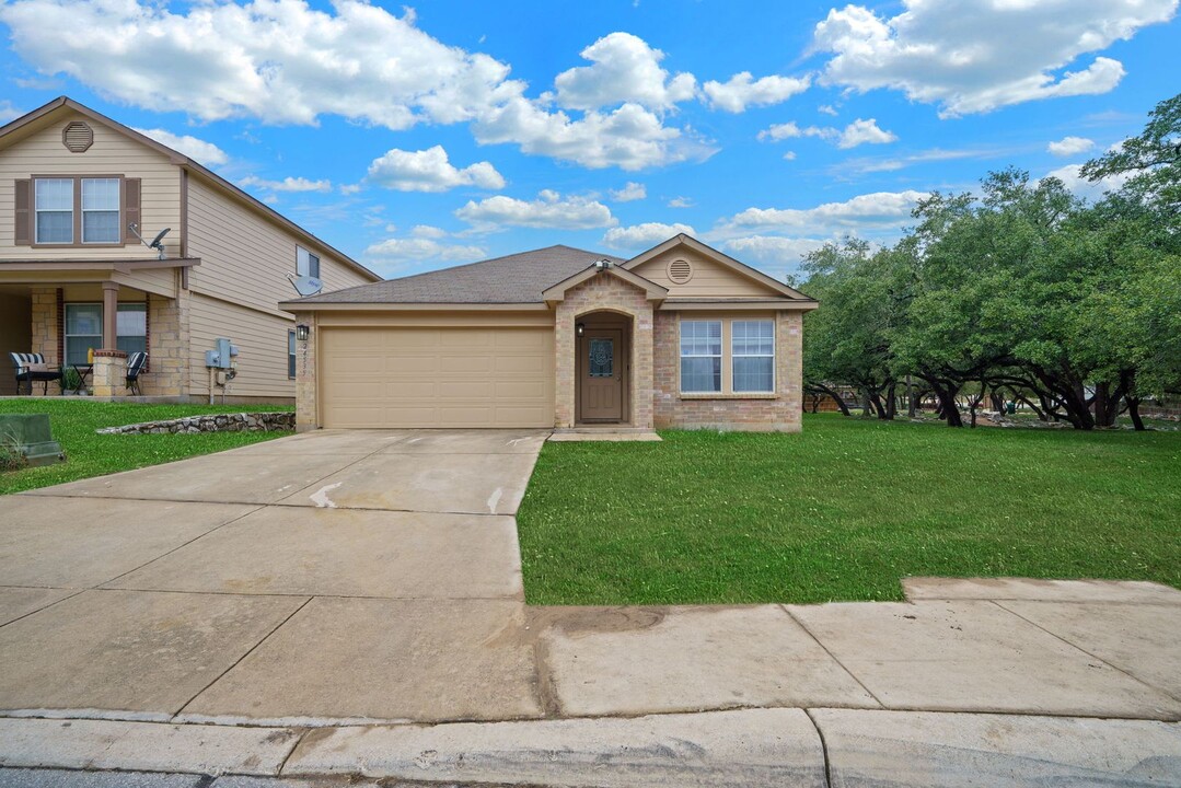
{"type": "Polygon", "coordinates": [[[624,262],[568,246],[510,254],[402,279],[333,291],[298,304],[537,304],[541,294],[598,260],[624,262]]]}

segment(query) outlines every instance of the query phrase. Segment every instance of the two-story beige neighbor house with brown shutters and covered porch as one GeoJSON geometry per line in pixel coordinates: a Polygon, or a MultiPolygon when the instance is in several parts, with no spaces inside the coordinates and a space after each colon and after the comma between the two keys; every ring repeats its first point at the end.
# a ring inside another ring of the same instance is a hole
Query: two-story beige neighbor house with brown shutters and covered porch
{"type": "Polygon", "coordinates": [[[295,274],[326,291],[380,280],[189,157],[68,98],[0,128],[0,393],[15,393],[8,352],[85,369],[98,351],[96,393],[110,372],[113,390],[102,392],[118,396],[122,354],[146,351],[144,396],[201,399],[204,351],[227,337],[240,350],[231,398],[293,400],[294,320],[278,302],[294,295],[295,274]],[[133,232],[150,241],[165,228],[161,252],[133,232]]]}

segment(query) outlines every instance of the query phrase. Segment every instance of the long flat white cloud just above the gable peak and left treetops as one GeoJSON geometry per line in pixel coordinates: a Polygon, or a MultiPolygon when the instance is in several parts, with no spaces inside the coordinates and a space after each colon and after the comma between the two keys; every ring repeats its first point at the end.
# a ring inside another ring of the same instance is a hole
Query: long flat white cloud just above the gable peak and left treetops
{"type": "Polygon", "coordinates": [[[844,202],[827,202],[815,208],[748,208],[724,220],[718,233],[735,237],[752,230],[789,235],[829,236],[862,229],[895,228],[903,224],[925,191],[875,191],[844,202]]]}

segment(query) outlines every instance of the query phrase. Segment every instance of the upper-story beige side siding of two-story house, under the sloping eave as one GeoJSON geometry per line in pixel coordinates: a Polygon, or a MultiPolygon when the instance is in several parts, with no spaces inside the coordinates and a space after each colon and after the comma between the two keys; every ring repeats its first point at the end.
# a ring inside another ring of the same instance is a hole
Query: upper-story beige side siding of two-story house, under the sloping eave
{"type": "Polygon", "coordinates": [[[282,314],[276,306],[279,301],[298,298],[287,280],[288,274],[295,274],[296,246],[320,256],[320,278],[326,292],[371,281],[200,176],[189,178],[188,252],[201,259],[201,265],[189,274],[189,286],[195,293],[282,314]]]}

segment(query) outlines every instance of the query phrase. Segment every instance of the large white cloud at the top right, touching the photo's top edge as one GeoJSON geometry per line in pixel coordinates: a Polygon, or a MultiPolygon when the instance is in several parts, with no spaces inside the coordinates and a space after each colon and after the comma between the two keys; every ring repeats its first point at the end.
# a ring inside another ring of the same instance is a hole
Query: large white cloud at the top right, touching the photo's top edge
{"type": "Polygon", "coordinates": [[[1044,98],[1105,93],[1123,65],[1096,57],[1056,72],[1137,30],[1169,20],[1177,0],[903,0],[896,17],[833,8],[813,47],[831,52],[821,82],[888,87],[938,103],[944,117],[1044,98]]]}

